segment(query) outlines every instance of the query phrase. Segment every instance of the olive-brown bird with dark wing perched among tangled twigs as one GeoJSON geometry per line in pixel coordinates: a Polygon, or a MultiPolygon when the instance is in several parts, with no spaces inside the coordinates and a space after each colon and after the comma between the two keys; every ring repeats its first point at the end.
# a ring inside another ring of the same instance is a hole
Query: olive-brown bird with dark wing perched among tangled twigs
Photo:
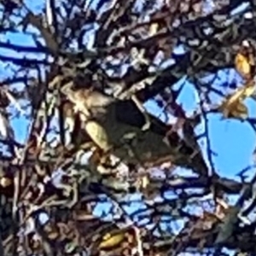
{"type": "Polygon", "coordinates": [[[126,164],[157,166],[171,161],[207,176],[207,166],[197,145],[189,146],[172,127],[147,113],[150,125],[143,130],[145,113],[132,100],[119,100],[98,90],[61,89],[79,112],[91,140],[104,154],[113,154],[126,164]],[[168,136],[166,136],[168,134],[168,136]]]}

